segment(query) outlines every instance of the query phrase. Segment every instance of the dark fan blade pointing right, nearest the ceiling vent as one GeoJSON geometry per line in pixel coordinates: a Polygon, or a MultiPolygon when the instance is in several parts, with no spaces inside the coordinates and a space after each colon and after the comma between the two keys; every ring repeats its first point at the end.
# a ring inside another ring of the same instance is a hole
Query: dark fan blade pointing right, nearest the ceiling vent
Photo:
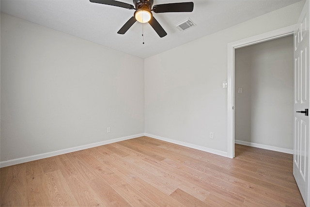
{"type": "Polygon", "coordinates": [[[166,3],[158,4],[153,7],[155,13],[165,12],[192,12],[194,9],[193,2],[166,3]]]}

